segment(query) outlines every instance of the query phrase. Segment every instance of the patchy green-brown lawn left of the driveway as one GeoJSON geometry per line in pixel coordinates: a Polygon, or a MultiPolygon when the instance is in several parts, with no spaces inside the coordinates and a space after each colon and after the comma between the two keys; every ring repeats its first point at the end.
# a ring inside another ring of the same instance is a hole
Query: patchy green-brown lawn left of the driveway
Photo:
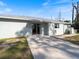
{"type": "Polygon", "coordinates": [[[8,45],[0,47],[0,59],[33,59],[24,37],[0,39],[0,45],[8,45]]]}

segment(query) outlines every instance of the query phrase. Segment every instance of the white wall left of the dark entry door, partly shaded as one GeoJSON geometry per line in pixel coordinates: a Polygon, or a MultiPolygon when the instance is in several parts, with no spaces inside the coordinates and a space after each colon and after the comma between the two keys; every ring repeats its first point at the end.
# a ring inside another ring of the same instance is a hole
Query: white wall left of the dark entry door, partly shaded
{"type": "Polygon", "coordinates": [[[31,35],[31,28],[31,25],[28,25],[27,23],[0,21],[0,38],[31,35]]]}

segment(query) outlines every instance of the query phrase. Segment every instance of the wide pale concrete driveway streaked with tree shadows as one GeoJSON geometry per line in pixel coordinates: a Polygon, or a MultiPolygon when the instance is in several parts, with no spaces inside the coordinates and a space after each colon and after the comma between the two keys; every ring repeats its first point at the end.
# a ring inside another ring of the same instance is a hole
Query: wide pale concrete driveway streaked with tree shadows
{"type": "Polygon", "coordinates": [[[79,59],[79,46],[55,37],[33,35],[28,43],[34,59],[79,59]]]}

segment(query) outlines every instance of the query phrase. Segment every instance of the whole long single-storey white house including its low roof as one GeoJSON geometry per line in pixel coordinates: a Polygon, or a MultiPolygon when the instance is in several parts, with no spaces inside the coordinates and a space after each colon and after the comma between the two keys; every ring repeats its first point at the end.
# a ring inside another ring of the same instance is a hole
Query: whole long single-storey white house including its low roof
{"type": "Polygon", "coordinates": [[[74,33],[71,23],[68,22],[28,16],[0,16],[0,38],[33,34],[63,35],[66,29],[71,34],[74,33]]]}

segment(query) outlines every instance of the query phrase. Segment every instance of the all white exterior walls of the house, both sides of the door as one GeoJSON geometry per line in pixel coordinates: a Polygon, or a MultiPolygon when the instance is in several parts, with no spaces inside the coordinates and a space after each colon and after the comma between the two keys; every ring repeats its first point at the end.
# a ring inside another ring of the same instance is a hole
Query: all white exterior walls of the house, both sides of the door
{"type": "MultiPolygon", "coordinates": [[[[67,25],[59,24],[59,28],[54,28],[54,23],[40,24],[41,35],[62,35],[67,29],[67,25]]],[[[72,33],[75,33],[71,28],[72,33]]],[[[32,24],[21,22],[3,22],[0,21],[0,38],[10,38],[17,36],[32,35],[32,24]]]]}

